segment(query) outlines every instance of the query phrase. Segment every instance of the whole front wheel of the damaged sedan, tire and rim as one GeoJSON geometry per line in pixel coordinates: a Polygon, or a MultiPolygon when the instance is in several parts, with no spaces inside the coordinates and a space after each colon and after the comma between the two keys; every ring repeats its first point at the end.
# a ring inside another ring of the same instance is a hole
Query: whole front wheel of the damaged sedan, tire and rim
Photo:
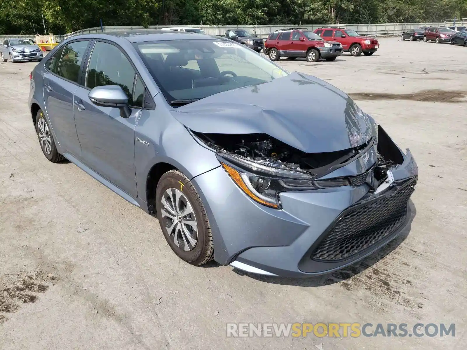
{"type": "Polygon", "coordinates": [[[214,258],[205,207],[190,179],[179,170],[170,170],[157,183],[156,210],[163,235],[180,259],[199,266],[214,258]]]}

